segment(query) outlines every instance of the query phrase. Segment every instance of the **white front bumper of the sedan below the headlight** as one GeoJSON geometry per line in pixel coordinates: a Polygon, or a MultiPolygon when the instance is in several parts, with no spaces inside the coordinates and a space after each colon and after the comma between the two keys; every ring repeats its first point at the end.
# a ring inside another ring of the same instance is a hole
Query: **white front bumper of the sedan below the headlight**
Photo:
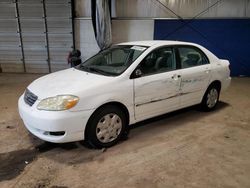
{"type": "Polygon", "coordinates": [[[85,127],[94,110],[77,112],[37,110],[39,101],[31,107],[24,102],[23,97],[22,95],[18,100],[19,114],[33,135],[54,143],[84,140],[85,127]],[[60,134],[55,134],[58,132],[60,134]]]}

